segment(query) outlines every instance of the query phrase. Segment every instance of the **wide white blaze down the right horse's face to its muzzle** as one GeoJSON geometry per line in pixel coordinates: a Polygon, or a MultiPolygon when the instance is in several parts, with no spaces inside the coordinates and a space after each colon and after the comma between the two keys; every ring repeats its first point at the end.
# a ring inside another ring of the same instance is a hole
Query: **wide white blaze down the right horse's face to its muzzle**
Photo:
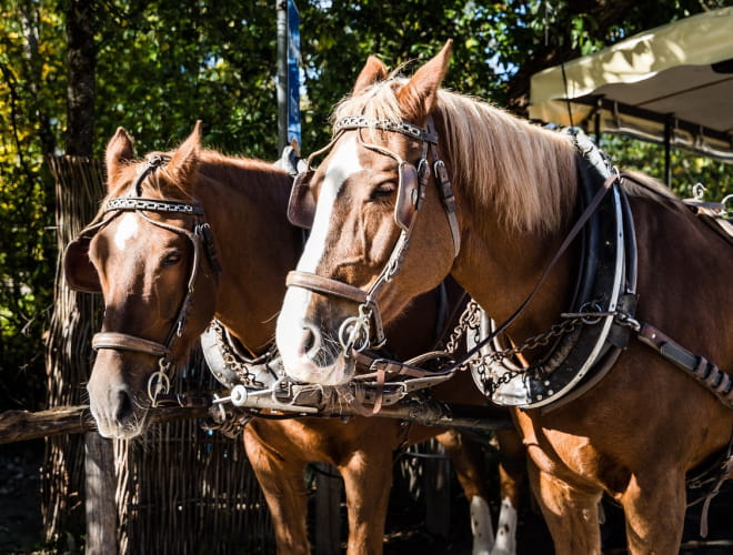
{"type": "MultiPolygon", "coordinates": [[[[314,273],[318,270],[325,253],[334,202],[343,183],[361,170],[357,139],[343,141],[337,147],[327,168],[311,234],[298,262],[299,271],[314,273]]],[[[317,360],[322,360],[319,354],[324,345],[318,323],[307,319],[311,296],[305,289],[288,289],[278,317],[278,349],[289,375],[304,382],[332,385],[340,381],[338,372],[324,373],[324,369],[317,363],[317,360]]]]}

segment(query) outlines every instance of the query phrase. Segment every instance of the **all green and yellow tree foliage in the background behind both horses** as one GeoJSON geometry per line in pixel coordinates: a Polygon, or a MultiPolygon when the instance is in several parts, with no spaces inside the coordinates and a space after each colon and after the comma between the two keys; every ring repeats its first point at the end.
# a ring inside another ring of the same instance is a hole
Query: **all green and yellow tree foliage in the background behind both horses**
{"type": "MultiPolygon", "coordinates": [[[[64,13],[79,0],[0,0],[0,408],[42,398],[42,333],[56,271],[53,184],[44,157],[66,135],[64,13]]],[[[703,9],[700,0],[299,0],[303,151],[324,144],[331,108],[370,54],[420,62],[448,38],[445,85],[512,109],[529,77],[644,29],[703,9]]],[[[706,8],[730,1],[706,1],[706,8]]],[[[278,157],[275,4],[272,0],[90,0],[97,33],[94,155],[122,125],[138,153],[165,150],[195,120],[207,144],[278,157]]],[[[662,178],[657,145],[605,137],[619,165],[662,178]]],[[[673,152],[676,189],[731,191],[730,167],[673,152]],[[719,183],[717,188],[714,186],[719,183]]],[[[680,191],[687,195],[689,190],[680,191]]]]}

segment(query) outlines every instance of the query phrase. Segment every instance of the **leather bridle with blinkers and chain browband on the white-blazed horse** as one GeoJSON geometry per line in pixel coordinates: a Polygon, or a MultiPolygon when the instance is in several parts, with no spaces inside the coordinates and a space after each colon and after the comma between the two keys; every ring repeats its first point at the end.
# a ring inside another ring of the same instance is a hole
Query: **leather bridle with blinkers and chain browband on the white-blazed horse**
{"type": "Polygon", "coordinates": [[[398,200],[394,206],[394,221],[400,229],[400,236],[392,249],[392,253],[390,254],[384,269],[369,291],[364,291],[331,278],[301,271],[290,272],[285,282],[288,286],[302,287],[309,291],[353,301],[359,304],[359,315],[344,320],[339,327],[339,342],[347,356],[349,356],[352,350],[361,352],[370,346],[379,349],[385,342],[378,299],[382,287],[392,281],[392,278],[394,278],[400,271],[404,260],[404,254],[410,243],[410,236],[412,235],[416,214],[424,200],[425,188],[430,180],[430,164],[428,162],[429,149],[433,158],[435,183],[438,184],[443,209],[451,228],[454,256],[458,255],[461,249],[461,235],[455,215],[455,199],[453,196],[448,171],[445,170],[445,164],[438,155],[438,135],[433,131],[433,121],[431,117],[428,118],[426,129],[422,129],[404,121],[368,118],[363,115],[341,118],[334,125],[334,137],[331,142],[324,149],[321,149],[309,157],[305,171],[299,174],[299,178],[293,184],[288,209],[291,222],[301,226],[310,226],[315,210],[313,199],[308,196],[308,179],[310,179],[313,173],[311,161],[314,157],[330,150],[339,138],[349,130],[357,130],[359,132],[359,143],[362,147],[390,157],[398,162],[399,188],[398,200]],[[423,144],[422,155],[418,163],[413,165],[410,162],[404,161],[398,153],[390,149],[365,142],[361,135],[362,129],[379,129],[382,131],[401,133],[410,139],[418,140],[423,144]],[[372,331],[374,336],[373,341],[372,331]]]}

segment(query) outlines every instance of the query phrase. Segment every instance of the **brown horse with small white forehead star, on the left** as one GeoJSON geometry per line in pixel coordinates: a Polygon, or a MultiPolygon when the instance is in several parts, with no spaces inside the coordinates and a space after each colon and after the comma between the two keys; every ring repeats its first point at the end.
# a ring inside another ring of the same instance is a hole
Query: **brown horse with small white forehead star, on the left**
{"type": "MultiPolygon", "coordinates": [[[[272,164],[203,150],[200,141],[198,124],[174,152],[135,161],[119,129],[107,149],[103,209],[67,249],[69,283],[104,297],[88,390],[107,437],[144,432],[155,390],[167,389],[213,316],[253,355],[267,350],[287,272],[302,249],[301,230],[285,219],[290,176],[272,164]]],[[[393,335],[402,356],[434,341],[432,299],[408,316],[412,332],[393,335]]],[[[309,552],[303,472],[320,461],[344,480],[348,553],[381,553],[393,453],[440,432],[365,417],[251,421],[244,446],[273,516],[278,552],[309,552]]],[[[493,534],[481,452],[455,432],[438,438],[453,455],[485,553],[493,534]]],[[[512,483],[505,484],[510,495],[512,483]]]]}

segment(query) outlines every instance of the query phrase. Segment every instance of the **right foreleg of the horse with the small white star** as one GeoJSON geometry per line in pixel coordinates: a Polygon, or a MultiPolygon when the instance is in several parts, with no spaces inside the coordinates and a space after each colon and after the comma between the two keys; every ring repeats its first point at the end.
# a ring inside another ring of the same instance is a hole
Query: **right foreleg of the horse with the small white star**
{"type": "Polygon", "coordinates": [[[349,517],[347,555],[380,555],[392,487],[392,445],[383,441],[364,445],[340,464],[339,471],[349,517]]]}

